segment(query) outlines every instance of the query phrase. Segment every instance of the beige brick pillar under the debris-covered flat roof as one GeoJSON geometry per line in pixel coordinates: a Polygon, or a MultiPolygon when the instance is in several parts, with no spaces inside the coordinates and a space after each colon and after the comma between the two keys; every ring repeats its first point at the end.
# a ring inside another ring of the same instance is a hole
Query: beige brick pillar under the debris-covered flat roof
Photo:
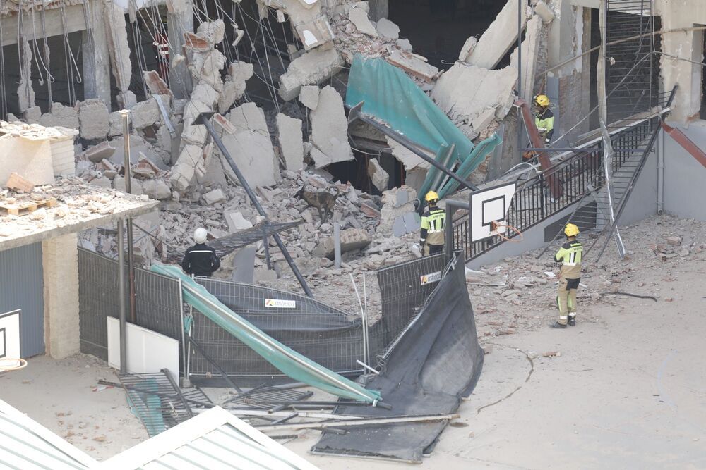
{"type": "Polygon", "coordinates": [[[76,233],[42,242],[42,265],[44,346],[50,357],[64,359],[80,350],[76,233]]]}

